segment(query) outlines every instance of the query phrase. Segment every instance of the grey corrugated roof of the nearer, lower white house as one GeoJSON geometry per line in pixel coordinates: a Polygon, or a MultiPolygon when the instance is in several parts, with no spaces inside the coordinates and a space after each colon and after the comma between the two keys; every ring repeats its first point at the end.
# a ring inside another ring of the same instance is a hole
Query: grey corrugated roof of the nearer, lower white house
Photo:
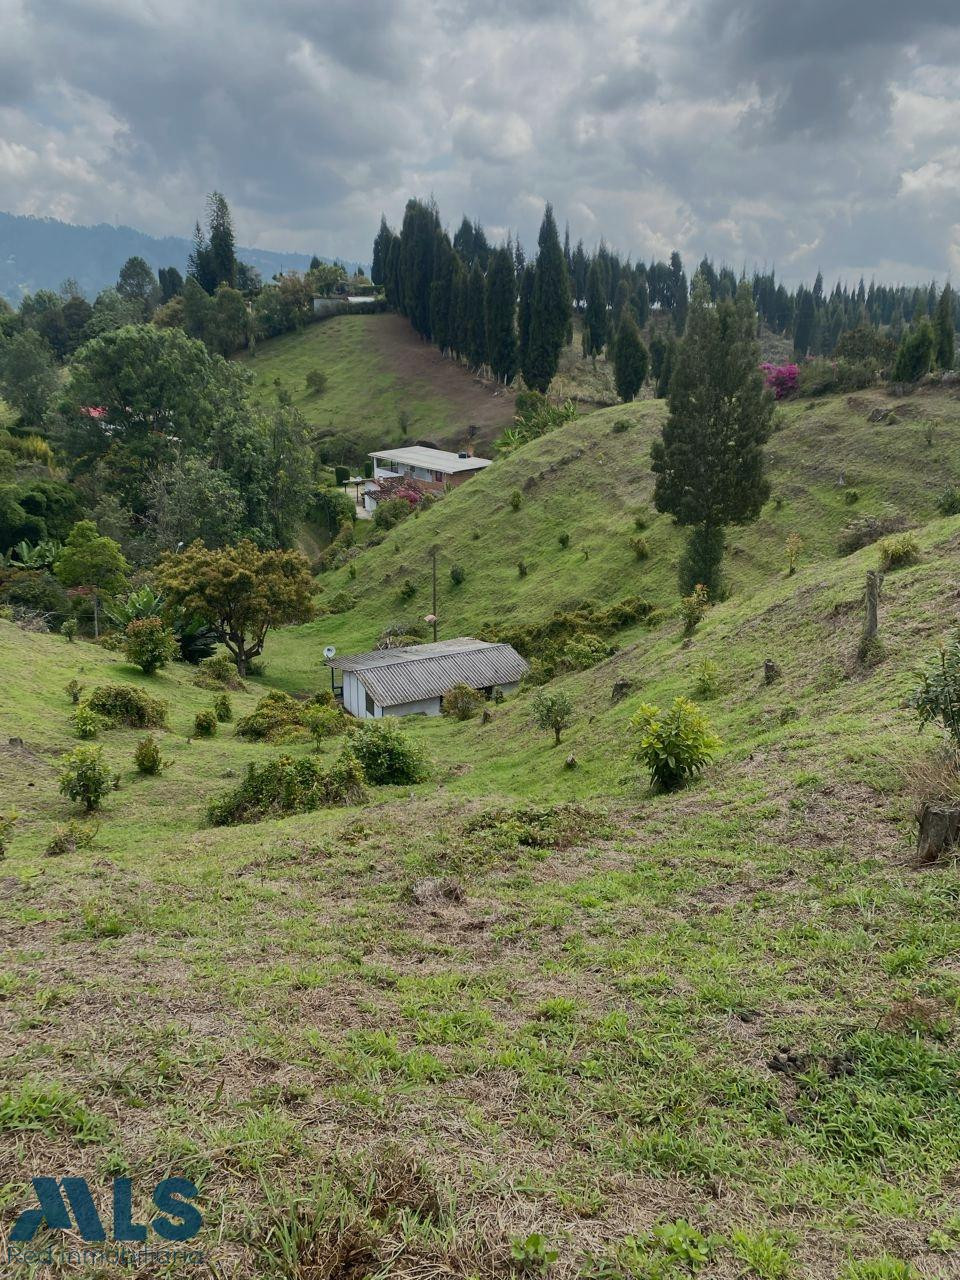
{"type": "Polygon", "coordinates": [[[440,698],[454,685],[470,685],[471,689],[512,685],[529,671],[512,645],[488,644],[472,636],[404,649],[375,649],[334,658],[330,666],[355,672],[380,707],[440,698]]]}

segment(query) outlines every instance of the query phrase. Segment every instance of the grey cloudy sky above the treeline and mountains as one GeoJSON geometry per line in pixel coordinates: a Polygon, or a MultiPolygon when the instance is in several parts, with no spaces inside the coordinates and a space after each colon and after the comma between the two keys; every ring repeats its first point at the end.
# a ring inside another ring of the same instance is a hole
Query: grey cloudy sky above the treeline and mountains
{"type": "Polygon", "coordinates": [[[0,209],[369,260],[494,237],[960,278],[960,0],[0,0],[0,209]]]}

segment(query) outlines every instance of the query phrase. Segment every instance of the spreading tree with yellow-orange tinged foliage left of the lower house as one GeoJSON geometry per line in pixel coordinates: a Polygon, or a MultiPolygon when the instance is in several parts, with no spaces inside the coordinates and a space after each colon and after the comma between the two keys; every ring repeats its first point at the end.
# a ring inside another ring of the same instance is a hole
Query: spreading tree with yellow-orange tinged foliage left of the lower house
{"type": "Polygon", "coordinates": [[[264,652],[270,627],[307,622],[314,613],[306,558],[300,552],[262,552],[248,539],[219,550],[193,543],[163,557],[157,577],[170,604],[212,628],[239,676],[264,652]]]}

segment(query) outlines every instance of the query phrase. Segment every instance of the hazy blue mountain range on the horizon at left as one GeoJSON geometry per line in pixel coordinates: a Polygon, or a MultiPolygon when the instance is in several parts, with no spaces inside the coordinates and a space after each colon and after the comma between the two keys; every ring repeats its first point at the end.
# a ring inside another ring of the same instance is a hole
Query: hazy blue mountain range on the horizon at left
{"type": "MultiPolygon", "coordinates": [[[[116,284],[128,257],[140,255],[155,271],[175,266],[186,274],[191,248],[192,242],[183,236],[157,238],[133,227],[74,227],[55,218],[0,212],[0,297],[17,306],[24,293],[56,289],[63,280],[73,279],[92,301],[101,289],[116,284]]],[[[280,270],[305,271],[310,266],[308,253],[238,247],[237,256],[265,280],[280,270]]],[[[349,270],[357,266],[344,265],[349,270]]]]}

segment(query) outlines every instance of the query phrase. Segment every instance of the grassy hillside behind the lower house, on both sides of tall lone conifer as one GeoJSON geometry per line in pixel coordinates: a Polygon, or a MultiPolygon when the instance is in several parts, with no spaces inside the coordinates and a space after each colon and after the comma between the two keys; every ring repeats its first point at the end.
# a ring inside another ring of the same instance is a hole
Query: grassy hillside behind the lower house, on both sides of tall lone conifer
{"type": "MultiPolygon", "coordinates": [[[[577,419],[498,461],[362,550],[349,567],[323,576],[321,604],[347,591],[356,605],[279,637],[269,655],[271,678],[312,678],[325,644],[365,649],[388,623],[422,618],[430,609],[434,544],[440,549],[442,635],[535,621],[581,599],[643,595],[672,605],[684,535],[650,500],[649,449],[663,412],[662,402],[649,401],[577,419]],[[617,431],[625,420],[631,429],[617,431]],[[522,495],[516,512],[515,490],[522,495]],[[644,561],[630,547],[637,511],[649,520],[644,561]],[[559,545],[564,531],[566,549],[559,545]],[[454,564],[466,572],[460,586],[449,576],[454,564]],[[410,600],[399,594],[406,580],[416,588],[410,600]]],[[[942,392],[901,402],[881,393],[795,402],[783,410],[769,453],[771,502],[755,525],[730,530],[726,573],[736,595],[782,571],[791,534],[803,539],[805,562],[829,559],[850,521],[902,515],[916,524],[933,516],[943,488],[960,477],[960,402],[942,392]],[[874,410],[891,407],[904,416],[869,421],[874,410]],[[850,490],[859,494],[855,504],[845,500],[850,490]]]]}

